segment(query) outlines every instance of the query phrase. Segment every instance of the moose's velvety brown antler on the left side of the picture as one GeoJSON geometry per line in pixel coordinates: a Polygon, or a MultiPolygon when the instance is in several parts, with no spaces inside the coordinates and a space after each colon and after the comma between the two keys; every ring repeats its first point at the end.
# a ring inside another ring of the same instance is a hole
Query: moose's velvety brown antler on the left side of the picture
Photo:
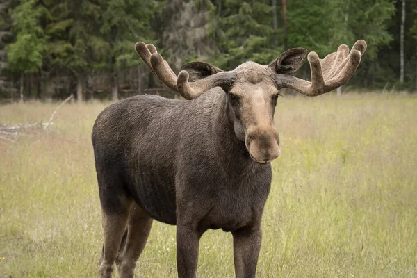
{"type": "Polygon", "coordinates": [[[195,99],[214,87],[227,88],[236,79],[234,72],[219,72],[195,82],[188,82],[188,72],[181,70],[177,78],[170,65],[158,54],[153,44],[137,42],[135,48],[140,58],[158,76],[158,79],[161,79],[170,89],[179,92],[185,99],[195,99]]]}

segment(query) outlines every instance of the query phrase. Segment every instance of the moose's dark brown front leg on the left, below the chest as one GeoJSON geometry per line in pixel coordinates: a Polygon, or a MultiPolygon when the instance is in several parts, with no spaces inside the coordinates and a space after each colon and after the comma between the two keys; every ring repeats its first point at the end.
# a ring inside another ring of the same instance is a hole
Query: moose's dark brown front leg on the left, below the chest
{"type": "Polygon", "coordinates": [[[199,239],[202,233],[194,225],[177,223],[178,278],[195,278],[199,239]]]}

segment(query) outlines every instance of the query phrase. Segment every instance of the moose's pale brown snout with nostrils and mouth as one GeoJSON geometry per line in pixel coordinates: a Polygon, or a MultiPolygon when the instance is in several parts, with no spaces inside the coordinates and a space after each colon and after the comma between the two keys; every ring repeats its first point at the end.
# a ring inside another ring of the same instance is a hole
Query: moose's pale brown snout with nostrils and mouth
{"type": "Polygon", "coordinates": [[[245,138],[246,149],[257,163],[270,163],[281,154],[275,126],[251,126],[245,138]]]}

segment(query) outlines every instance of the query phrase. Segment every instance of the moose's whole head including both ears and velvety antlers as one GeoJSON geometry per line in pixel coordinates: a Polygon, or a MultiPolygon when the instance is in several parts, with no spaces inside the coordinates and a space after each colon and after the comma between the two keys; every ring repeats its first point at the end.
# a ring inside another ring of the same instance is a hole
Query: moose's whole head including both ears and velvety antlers
{"type": "Polygon", "coordinates": [[[208,90],[220,87],[227,95],[229,117],[236,137],[245,142],[250,157],[269,163],[280,154],[278,131],[273,122],[279,89],[291,88],[313,97],[344,85],[357,70],[366,42],[358,40],[352,50],[342,44],[324,59],[303,48],[289,49],[269,65],[246,62],[235,70],[223,70],[204,62],[186,63],[178,76],[157,53],[153,44],[138,42],[136,52],[161,81],[185,99],[196,99],[208,90]],[[310,63],[311,81],[291,76],[310,63]]]}

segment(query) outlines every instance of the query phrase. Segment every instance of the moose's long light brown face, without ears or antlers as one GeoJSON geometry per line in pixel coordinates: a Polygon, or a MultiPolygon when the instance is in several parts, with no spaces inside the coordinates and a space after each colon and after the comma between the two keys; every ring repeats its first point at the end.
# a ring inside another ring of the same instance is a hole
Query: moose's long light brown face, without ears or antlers
{"type": "Polygon", "coordinates": [[[267,66],[247,62],[236,68],[236,81],[227,97],[233,111],[234,131],[245,142],[250,157],[270,163],[280,154],[274,111],[279,97],[267,66]]]}

